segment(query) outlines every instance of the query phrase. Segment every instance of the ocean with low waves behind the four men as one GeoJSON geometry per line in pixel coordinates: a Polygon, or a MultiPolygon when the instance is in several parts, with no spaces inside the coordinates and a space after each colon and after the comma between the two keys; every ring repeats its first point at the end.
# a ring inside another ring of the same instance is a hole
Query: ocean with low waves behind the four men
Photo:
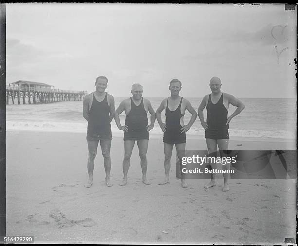
{"type": "MultiPolygon", "coordinates": [[[[124,98],[115,98],[117,108],[124,98]]],[[[156,110],[163,98],[147,98],[156,110]]],[[[202,98],[187,98],[195,110],[202,98]]],[[[296,139],[296,99],[294,98],[239,98],[245,109],[230,122],[230,137],[285,138],[296,139]]],[[[229,115],[236,108],[230,105],[229,115]]],[[[165,118],[164,111],[162,113],[165,118]]],[[[191,114],[186,111],[184,123],[189,122],[191,114]]],[[[206,110],[204,111],[206,118],[206,110]]],[[[125,114],[120,115],[124,124],[125,114]]],[[[150,122],[150,114],[148,114],[150,122]]],[[[114,120],[112,133],[121,133],[114,120]]],[[[36,130],[54,132],[87,132],[87,121],[83,118],[83,102],[55,102],[49,104],[6,105],[7,130],[36,130]]],[[[150,133],[161,134],[157,121],[150,133]]],[[[205,135],[199,118],[196,119],[187,135],[205,135]]]]}

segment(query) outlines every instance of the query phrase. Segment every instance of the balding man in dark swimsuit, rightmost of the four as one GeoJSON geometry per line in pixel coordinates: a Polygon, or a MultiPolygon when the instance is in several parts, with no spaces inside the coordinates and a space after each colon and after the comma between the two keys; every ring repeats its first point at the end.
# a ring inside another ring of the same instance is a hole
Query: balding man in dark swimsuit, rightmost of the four
{"type": "MultiPolygon", "coordinates": [[[[198,115],[201,125],[205,129],[205,137],[209,154],[219,150],[227,150],[229,144],[229,123],[233,117],[245,108],[244,104],[236,99],[233,95],[221,92],[221,80],[213,77],[210,80],[210,88],[212,93],[205,95],[199,108],[198,115]],[[229,117],[229,104],[237,107],[233,114],[229,117]],[[207,122],[204,121],[203,110],[207,107],[207,122]]],[[[216,168],[216,163],[211,163],[212,168],[216,168]]],[[[230,169],[230,163],[223,165],[223,169],[230,169]]],[[[223,173],[224,184],[223,191],[229,190],[228,179],[229,173],[223,173]]],[[[205,185],[205,188],[215,186],[215,173],[211,173],[211,181],[205,185]]]]}

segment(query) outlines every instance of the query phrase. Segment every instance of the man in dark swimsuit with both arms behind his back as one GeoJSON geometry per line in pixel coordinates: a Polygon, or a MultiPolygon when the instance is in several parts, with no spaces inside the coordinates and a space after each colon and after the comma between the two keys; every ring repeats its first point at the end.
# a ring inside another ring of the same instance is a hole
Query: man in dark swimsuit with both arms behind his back
{"type": "Polygon", "coordinates": [[[93,182],[94,159],[97,153],[98,141],[104,157],[106,171],[106,185],[112,186],[111,170],[111,124],[115,114],[115,101],[112,95],[105,92],[108,79],[105,76],[96,78],[96,91],[84,97],[83,116],[88,121],[87,143],[89,158],[87,163],[89,179],[85,187],[91,187],[93,182]]]}

